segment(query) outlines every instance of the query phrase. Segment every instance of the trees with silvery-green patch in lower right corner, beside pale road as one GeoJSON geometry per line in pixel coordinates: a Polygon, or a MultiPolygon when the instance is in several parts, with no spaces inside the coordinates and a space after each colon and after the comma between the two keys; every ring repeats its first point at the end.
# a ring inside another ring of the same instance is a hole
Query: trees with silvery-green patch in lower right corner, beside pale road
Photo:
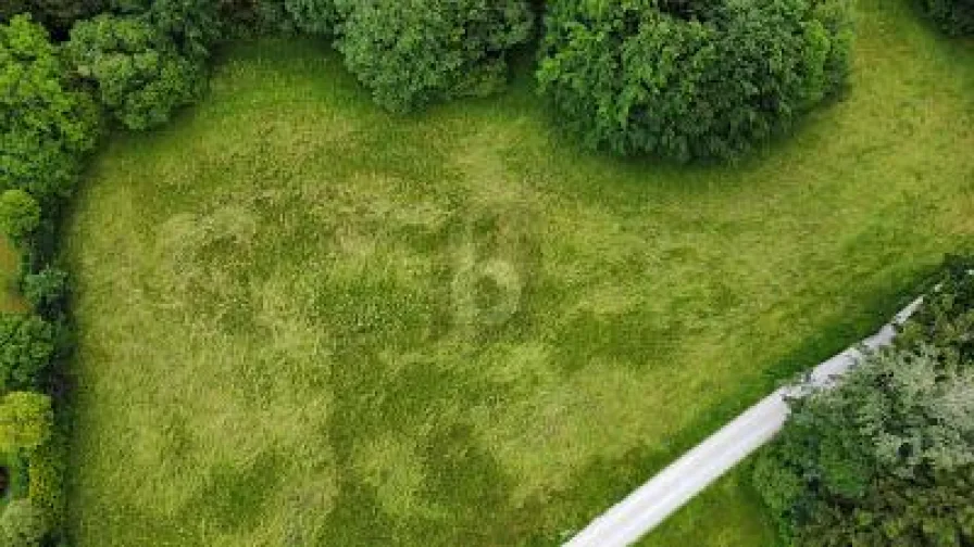
{"type": "Polygon", "coordinates": [[[974,277],[947,268],[895,348],[792,402],[754,482],[800,546],[974,542],[974,277]]]}

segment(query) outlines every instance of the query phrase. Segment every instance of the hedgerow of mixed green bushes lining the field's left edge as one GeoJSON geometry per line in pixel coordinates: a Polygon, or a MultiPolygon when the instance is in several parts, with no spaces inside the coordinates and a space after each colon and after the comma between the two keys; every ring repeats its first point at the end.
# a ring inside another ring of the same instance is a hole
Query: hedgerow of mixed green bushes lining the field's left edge
{"type": "Polygon", "coordinates": [[[0,450],[28,466],[27,498],[0,518],[3,545],[63,537],[66,455],[52,431],[64,419],[55,410],[64,405],[61,367],[71,347],[68,281],[51,259],[60,211],[102,133],[98,103],[68,66],[29,14],[0,24],[0,228],[22,255],[20,283],[34,307],[0,315],[0,450]]]}

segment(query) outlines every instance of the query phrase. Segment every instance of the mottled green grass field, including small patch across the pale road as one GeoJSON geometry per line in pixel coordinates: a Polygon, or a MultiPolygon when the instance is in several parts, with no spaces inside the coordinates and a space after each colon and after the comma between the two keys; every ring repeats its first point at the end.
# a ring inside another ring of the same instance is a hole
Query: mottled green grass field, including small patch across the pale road
{"type": "MultiPolygon", "coordinates": [[[[397,117],[229,48],[67,227],[77,545],[555,545],[883,323],[971,249],[974,50],[860,3],[848,96],[729,166],[583,152],[526,69],[397,117]]],[[[747,480],[647,545],[771,545],[747,480]]]]}

